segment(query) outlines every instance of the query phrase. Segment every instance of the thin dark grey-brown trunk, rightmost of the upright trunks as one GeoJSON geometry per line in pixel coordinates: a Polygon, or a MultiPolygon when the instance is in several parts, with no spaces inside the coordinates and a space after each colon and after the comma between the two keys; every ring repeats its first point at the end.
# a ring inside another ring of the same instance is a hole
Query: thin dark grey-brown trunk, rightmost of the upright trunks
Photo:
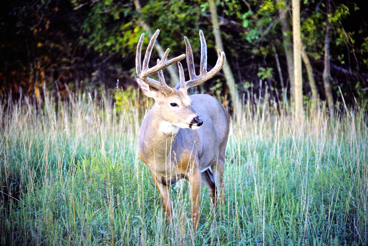
{"type": "Polygon", "coordinates": [[[326,18],[326,36],[325,36],[325,68],[323,69],[323,86],[325,87],[325,93],[327,98],[328,109],[330,114],[333,114],[333,97],[330,83],[330,21],[328,15],[331,13],[331,4],[327,0],[327,18],[326,18]]]}

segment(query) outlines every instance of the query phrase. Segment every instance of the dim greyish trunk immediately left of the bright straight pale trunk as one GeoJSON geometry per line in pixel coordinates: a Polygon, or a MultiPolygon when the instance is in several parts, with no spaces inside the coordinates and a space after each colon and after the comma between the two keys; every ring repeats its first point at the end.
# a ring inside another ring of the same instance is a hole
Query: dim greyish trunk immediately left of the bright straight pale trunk
{"type": "MultiPolygon", "coordinates": [[[[282,3],[285,6],[285,1],[279,0],[279,3],[282,3]]],[[[286,61],[287,61],[287,71],[289,72],[289,80],[290,80],[290,88],[291,88],[291,96],[293,96],[293,88],[294,88],[294,54],[293,47],[291,45],[291,26],[289,23],[289,17],[287,15],[287,8],[279,8],[279,19],[281,24],[281,31],[283,36],[283,45],[285,49],[286,61]]]]}

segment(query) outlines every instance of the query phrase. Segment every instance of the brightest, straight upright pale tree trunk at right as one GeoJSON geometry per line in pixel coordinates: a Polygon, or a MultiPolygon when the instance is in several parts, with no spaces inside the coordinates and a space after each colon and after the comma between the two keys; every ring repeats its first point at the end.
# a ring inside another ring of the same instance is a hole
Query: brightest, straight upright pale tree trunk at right
{"type": "Polygon", "coordinates": [[[300,0],[292,0],[292,5],[294,52],[294,110],[295,117],[301,118],[303,111],[303,93],[301,77],[300,0]]]}

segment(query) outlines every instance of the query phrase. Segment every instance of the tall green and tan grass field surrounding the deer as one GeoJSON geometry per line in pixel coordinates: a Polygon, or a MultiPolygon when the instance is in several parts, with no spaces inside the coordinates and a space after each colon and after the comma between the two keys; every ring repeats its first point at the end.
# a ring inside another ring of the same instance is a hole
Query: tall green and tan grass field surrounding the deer
{"type": "MultiPolygon", "coordinates": [[[[188,185],[160,196],[137,156],[149,102],[23,98],[0,108],[1,245],[367,245],[367,112],[294,120],[265,103],[231,121],[224,219],[202,189],[198,232],[188,185]],[[117,110],[118,109],[118,110],[117,110]]],[[[151,102],[152,103],[152,102],[151,102]]]]}

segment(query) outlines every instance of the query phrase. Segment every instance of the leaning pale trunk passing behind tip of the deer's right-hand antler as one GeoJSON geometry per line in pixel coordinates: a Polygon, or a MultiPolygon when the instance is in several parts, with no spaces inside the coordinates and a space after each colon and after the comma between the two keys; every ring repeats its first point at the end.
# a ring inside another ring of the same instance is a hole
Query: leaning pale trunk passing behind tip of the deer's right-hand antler
{"type": "MultiPolygon", "coordinates": [[[[216,4],[214,0],[209,0],[208,3],[209,3],[209,10],[211,13],[213,35],[215,36],[216,49],[223,51],[224,47],[221,39],[219,17],[217,16],[216,4]]],[[[231,72],[231,68],[227,60],[225,60],[222,70],[224,71],[230,96],[233,99],[234,115],[236,117],[241,117],[241,102],[238,95],[238,88],[235,83],[233,72],[231,72]]]]}

